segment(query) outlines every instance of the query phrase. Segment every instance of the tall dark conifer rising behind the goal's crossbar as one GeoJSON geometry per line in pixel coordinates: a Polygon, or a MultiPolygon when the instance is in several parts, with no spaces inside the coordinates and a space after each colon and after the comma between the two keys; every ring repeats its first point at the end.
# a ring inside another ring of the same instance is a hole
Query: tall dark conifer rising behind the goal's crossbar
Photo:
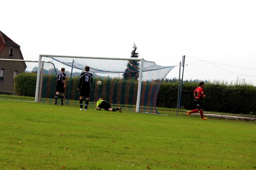
{"type": "MultiPolygon", "coordinates": [[[[137,46],[134,43],[134,46],[132,47],[134,48],[131,51],[131,57],[132,58],[138,58],[139,57],[139,53],[136,52],[137,50],[137,46]]],[[[127,68],[125,69],[125,73],[122,74],[123,79],[135,79],[137,80],[139,78],[139,71],[140,71],[140,64],[138,61],[136,60],[128,60],[127,63],[127,68]]]]}

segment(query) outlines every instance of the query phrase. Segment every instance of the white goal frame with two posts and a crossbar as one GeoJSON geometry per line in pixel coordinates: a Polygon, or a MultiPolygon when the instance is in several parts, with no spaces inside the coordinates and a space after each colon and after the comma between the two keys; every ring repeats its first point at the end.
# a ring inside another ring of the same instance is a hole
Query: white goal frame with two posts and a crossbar
{"type": "Polygon", "coordinates": [[[136,112],[140,110],[140,93],[141,93],[141,84],[142,84],[142,73],[143,73],[143,62],[144,58],[111,58],[111,57],[81,57],[81,56],[60,56],[60,55],[44,55],[40,54],[38,59],[38,73],[36,79],[36,90],[35,90],[35,102],[38,102],[39,94],[39,82],[40,82],[40,71],[41,71],[41,60],[42,57],[67,57],[67,58],[88,58],[88,59],[116,59],[116,60],[136,60],[140,61],[140,74],[139,74],[139,84],[137,92],[137,102],[136,102],[136,112]]]}

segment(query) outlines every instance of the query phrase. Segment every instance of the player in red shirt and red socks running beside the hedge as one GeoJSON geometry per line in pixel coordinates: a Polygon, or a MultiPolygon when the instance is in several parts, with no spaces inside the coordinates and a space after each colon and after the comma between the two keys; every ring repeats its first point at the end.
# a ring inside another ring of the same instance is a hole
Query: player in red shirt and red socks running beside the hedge
{"type": "Polygon", "coordinates": [[[197,113],[200,111],[200,116],[202,120],[206,120],[207,118],[204,118],[204,112],[203,112],[203,99],[205,97],[204,95],[204,82],[199,83],[199,87],[194,90],[194,96],[196,101],[196,109],[193,111],[188,111],[187,117],[190,113],[197,113]],[[196,95],[197,94],[197,95],[196,95]]]}

